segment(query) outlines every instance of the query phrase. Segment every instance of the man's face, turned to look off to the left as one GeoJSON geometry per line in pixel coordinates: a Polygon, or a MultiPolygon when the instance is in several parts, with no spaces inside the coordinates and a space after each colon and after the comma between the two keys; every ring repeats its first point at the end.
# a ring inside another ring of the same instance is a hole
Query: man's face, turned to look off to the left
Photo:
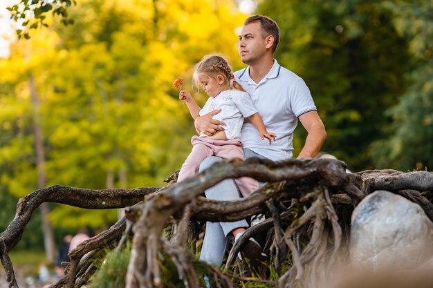
{"type": "Polygon", "coordinates": [[[260,22],[243,26],[239,35],[239,54],[243,63],[255,64],[266,54],[266,38],[262,33],[260,22]]]}

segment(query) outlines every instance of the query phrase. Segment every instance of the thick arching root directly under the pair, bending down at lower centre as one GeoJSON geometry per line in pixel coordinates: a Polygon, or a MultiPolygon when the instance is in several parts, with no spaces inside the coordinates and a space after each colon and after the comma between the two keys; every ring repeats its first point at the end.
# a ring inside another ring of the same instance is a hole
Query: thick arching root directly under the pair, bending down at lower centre
{"type": "MultiPolygon", "coordinates": [[[[246,175],[256,177],[261,181],[311,181],[315,184],[323,183],[333,188],[342,186],[345,179],[344,166],[339,161],[287,160],[272,162],[251,158],[244,162],[232,160],[216,163],[196,177],[171,186],[165,190],[165,193],[153,195],[144,204],[137,206],[137,209],[140,209],[142,213],[134,227],[133,253],[131,253],[131,262],[128,267],[127,287],[160,285],[160,272],[156,260],[156,251],[158,251],[156,239],[160,236],[170,215],[183,209],[186,204],[195,200],[210,186],[227,178],[246,175]],[[302,169],[299,169],[300,167],[302,169]]],[[[261,191],[266,191],[266,189],[261,189],[261,191]]],[[[239,202],[248,200],[247,198],[239,202]]],[[[236,215],[236,218],[241,219],[241,217],[244,216],[236,215]]]]}

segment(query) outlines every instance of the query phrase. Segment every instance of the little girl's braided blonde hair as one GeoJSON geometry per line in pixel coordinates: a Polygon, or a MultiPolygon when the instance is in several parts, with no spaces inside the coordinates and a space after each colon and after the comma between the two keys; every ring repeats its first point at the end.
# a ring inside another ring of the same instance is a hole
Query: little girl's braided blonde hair
{"type": "Polygon", "coordinates": [[[232,68],[228,65],[227,61],[219,55],[206,55],[199,63],[194,66],[194,84],[198,88],[201,86],[199,81],[199,74],[207,75],[208,77],[216,79],[218,75],[224,77],[230,89],[237,89],[245,91],[242,86],[234,79],[232,68]]]}

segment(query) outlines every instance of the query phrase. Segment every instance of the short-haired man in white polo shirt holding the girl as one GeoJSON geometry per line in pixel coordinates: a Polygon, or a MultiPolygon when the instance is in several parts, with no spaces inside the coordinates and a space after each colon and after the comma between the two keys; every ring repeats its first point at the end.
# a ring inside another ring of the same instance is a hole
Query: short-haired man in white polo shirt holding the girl
{"type": "MultiPolygon", "coordinates": [[[[273,58],[279,43],[277,23],[268,17],[255,15],[246,19],[239,35],[239,54],[247,68],[234,73],[239,84],[250,94],[252,102],[268,131],[277,135],[269,145],[262,141],[254,126],[245,122],[241,131],[241,142],[245,157],[266,157],[270,160],[284,160],[292,157],[293,131],[300,119],[308,132],[302,151],[297,158],[314,157],[326,138],[324,124],[317,114],[310,90],[304,81],[290,70],[280,66],[273,58]]],[[[220,110],[197,117],[197,131],[213,135],[222,130],[223,122],[212,119],[220,110]]],[[[209,157],[201,164],[201,170],[208,168],[217,157],[209,157]]],[[[225,180],[205,191],[209,199],[237,200],[239,191],[233,180],[225,180]]],[[[245,231],[245,220],[237,222],[206,223],[205,238],[200,259],[216,266],[221,265],[227,243],[232,233],[235,240],[245,231]]],[[[254,239],[245,245],[248,258],[259,258],[259,244],[254,239]]]]}

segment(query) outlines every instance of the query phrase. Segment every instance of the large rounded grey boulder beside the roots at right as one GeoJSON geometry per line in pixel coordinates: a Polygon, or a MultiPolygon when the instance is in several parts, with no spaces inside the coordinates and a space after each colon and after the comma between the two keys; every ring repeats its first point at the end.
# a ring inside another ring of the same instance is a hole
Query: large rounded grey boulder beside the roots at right
{"type": "Polygon", "coordinates": [[[351,262],[357,267],[415,268],[433,256],[433,223],[418,204],[376,191],[353,211],[350,242],[351,262]]]}

